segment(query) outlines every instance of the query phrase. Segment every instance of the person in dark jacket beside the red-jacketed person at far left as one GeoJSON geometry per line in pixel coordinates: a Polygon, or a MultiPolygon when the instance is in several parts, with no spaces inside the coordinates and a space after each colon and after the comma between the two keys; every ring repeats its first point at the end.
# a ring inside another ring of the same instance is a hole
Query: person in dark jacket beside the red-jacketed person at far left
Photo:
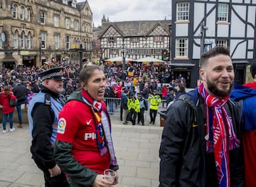
{"type": "Polygon", "coordinates": [[[28,97],[26,87],[21,84],[21,80],[16,79],[14,81],[14,95],[17,97],[18,103],[16,105],[17,113],[18,113],[18,128],[23,127],[23,120],[22,120],[22,109],[21,105],[26,104],[26,100],[28,97]]]}

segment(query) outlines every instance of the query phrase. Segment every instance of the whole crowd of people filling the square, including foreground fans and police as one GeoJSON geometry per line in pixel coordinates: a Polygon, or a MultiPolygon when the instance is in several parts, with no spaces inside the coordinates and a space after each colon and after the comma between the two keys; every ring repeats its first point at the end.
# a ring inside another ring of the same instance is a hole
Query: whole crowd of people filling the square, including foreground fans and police
{"type": "MultiPolygon", "coordinates": [[[[123,124],[144,125],[144,111],[149,109],[154,124],[161,100],[169,100],[159,149],[159,187],[251,186],[256,183],[256,62],[251,64],[254,82],[234,89],[228,48],[209,50],[199,65],[201,83],[188,93],[182,75],[164,84],[158,77],[161,73],[138,64],[129,65],[126,75],[115,66],[106,73],[99,65],[89,64],[80,73],[63,66],[6,70],[0,95],[3,133],[6,117],[14,112],[14,107],[6,107],[9,97],[18,100],[17,110],[21,103],[28,103],[31,154],[43,171],[45,186],[110,187],[119,181],[110,119],[114,104],[121,106],[123,124]],[[38,92],[30,99],[19,99],[21,87],[27,96],[27,90],[34,94],[33,87],[38,92]],[[105,97],[120,100],[105,103],[105,97]],[[107,180],[106,169],[115,173],[113,181],[107,180]]],[[[22,127],[22,121],[18,125],[22,127]]],[[[12,120],[10,131],[14,131],[12,120]]]]}

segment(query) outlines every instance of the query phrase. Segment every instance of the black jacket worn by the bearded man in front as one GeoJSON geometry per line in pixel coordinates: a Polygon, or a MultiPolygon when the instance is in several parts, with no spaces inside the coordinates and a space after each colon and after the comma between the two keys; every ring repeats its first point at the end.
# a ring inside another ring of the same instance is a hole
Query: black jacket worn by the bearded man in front
{"type": "MultiPolygon", "coordinates": [[[[242,107],[232,101],[225,105],[241,140],[242,107]]],[[[182,95],[169,107],[159,151],[159,187],[218,186],[213,154],[206,153],[206,114],[197,88],[182,95]]],[[[244,185],[242,145],[229,151],[231,186],[244,185]]]]}

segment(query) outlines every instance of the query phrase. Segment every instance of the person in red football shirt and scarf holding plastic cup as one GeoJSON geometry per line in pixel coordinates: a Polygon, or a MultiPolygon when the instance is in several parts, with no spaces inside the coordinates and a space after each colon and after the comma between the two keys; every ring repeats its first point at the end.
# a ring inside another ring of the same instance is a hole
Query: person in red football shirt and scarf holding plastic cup
{"type": "Polygon", "coordinates": [[[81,89],[68,97],[59,114],[55,161],[70,186],[112,186],[105,169],[119,169],[114,155],[110,116],[103,102],[106,78],[100,66],[80,71],[81,89]]]}

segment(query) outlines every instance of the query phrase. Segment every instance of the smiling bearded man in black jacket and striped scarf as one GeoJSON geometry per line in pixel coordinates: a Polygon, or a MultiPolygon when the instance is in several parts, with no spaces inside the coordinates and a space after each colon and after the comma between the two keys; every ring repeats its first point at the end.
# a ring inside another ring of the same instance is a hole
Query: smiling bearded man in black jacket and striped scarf
{"type": "Polygon", "coordinates": [[[235,80],[229,50],[216,46],[199,65],[201,85],[166,114],[159,187],[243,186],[241,108],[229,99],[235,80]]]}

